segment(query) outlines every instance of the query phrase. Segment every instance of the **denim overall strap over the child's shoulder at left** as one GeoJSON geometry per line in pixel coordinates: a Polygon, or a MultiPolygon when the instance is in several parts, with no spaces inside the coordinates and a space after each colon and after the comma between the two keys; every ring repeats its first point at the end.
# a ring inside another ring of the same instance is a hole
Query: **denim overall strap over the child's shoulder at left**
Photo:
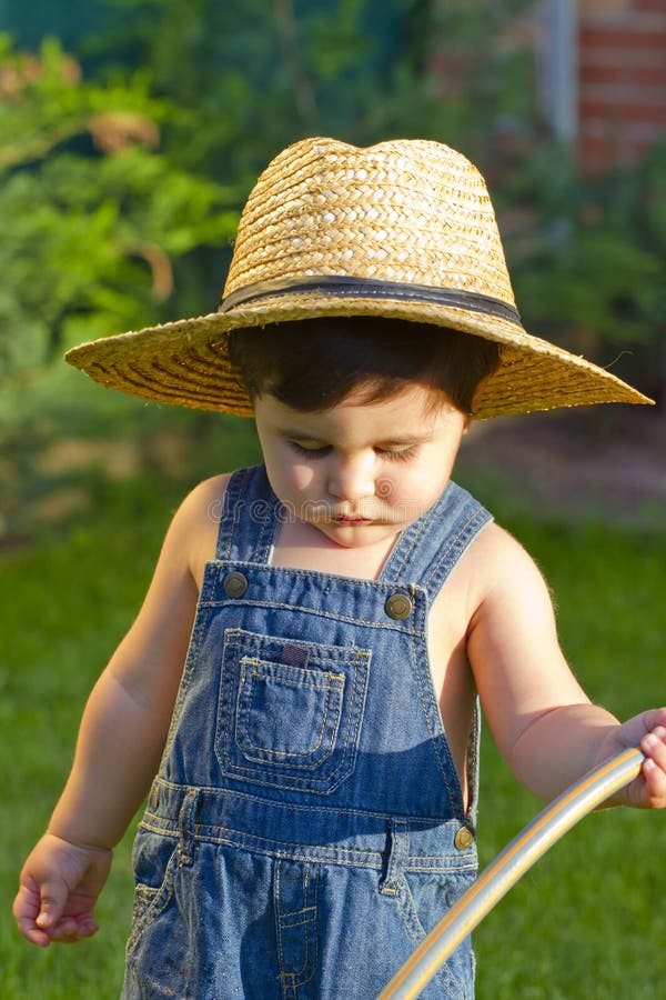
{"type": "Polygon", "coordinates": [[[232,473],[224,492],[215,559],[269,561],[280,517],[264,466],[232,473]]]}

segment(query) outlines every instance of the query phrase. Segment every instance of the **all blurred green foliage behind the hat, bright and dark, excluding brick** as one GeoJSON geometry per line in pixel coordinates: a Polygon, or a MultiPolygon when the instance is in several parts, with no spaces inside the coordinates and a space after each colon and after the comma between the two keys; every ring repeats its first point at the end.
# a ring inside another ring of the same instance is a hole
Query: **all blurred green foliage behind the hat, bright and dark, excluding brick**
{"type": "MultiPolygon", "coordinates": [[[[62,350],[213,308],[248,191],[304,134],[468,153],[488,177],[527,329],[603,363],[630,344],[618,374],[658,391],[665,150],[633,172],[576,176],[535,101],[522,20],[533,0],[91,2],[108,23],[75,57],[54,39],[30,54],[0,37],[6,530],[53,487],[40,471],[49,439],[102,420],[141,438],[143,404],[67,378],[62,350]]],[[[204,422],[169,408],[160,419],[204,422]]]]}

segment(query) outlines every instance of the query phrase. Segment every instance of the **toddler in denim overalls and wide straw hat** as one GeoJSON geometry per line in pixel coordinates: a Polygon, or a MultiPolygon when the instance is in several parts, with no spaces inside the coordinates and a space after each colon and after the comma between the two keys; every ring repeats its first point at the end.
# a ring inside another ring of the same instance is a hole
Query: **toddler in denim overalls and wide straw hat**
{"type": "MultiPolygon", "coordinates": [[[[666,709],[620,724],[589,702],[534,562],[451,480],[474,418],[648,402],[523,329],[460,153],[296,142],[250,196],[216,312],[68,360],[254,417],[264,463],[173,518],[23,867],[29,941],[97,931],[148,793],[125,998],[375,997],[475,878],[477,701],[544,799],[639,746],[609,804],[666,804],[666,709]]],[[[467,941],[423,997],[473,979],[467,941]]]]}

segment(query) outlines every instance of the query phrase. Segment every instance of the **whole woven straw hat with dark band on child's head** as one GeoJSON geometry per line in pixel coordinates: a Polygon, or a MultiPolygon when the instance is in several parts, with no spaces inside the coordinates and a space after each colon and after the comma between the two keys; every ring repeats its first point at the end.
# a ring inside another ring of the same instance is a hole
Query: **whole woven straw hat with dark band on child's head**
{"type": "Polygon", "coordinates": [[[501,363],[477,417],[650,402],[523,329],[482,176],[422,140],[290,146],[248,199],[216,312],[94,340],[65,358],[112,389],[251,416],[225,334],[320,316],[383,316],[432,323],[433,336],[440,326],[497,341],[501,363]]]}

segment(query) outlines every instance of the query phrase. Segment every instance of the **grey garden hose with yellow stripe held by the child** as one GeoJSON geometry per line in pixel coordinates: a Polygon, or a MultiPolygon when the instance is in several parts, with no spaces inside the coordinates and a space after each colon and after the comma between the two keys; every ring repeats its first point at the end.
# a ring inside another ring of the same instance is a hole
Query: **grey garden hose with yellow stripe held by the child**
{"type": "Polygon", "coordinates": [[[377,1000],[407,1000],[417,997],[452,951],[481,923],[521,876],[578,820],[635,778],[644,759],[640,750],[624,750],[554,799],[514,837],[461,896],[412,952],[377,1000]]]}

